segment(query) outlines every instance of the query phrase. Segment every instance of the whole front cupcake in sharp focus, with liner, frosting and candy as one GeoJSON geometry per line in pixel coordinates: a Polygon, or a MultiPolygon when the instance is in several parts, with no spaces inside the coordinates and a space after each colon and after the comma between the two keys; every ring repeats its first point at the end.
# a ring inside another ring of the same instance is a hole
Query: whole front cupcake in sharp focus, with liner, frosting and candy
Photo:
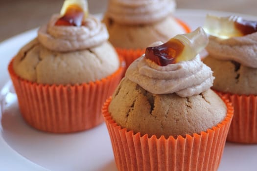
{"type": "Polygon", "coordinates": [[[233,107],[210,86],[202,28],[154,43],[103,106],[119,171],[216,171],[233,107]]]}

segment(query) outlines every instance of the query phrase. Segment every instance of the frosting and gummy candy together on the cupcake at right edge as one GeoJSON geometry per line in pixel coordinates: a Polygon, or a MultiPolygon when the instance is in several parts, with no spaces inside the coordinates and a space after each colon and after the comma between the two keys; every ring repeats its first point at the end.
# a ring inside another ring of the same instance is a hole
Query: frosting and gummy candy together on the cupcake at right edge
{"type": "Polygon", "coordinates": [[[256,21],[238,16],[222,18],[208,15],[205,30],[210,34],[206,49],[211,57],[257,68],[256,21]]]}

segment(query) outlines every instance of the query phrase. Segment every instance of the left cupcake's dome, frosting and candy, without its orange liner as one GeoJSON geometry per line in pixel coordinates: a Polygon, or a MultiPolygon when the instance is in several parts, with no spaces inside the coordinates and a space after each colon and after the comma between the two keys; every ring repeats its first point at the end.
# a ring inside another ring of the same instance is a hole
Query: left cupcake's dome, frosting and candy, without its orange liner
{"type": "Polygon", "coordinates": [[[88,15],[86,0],[65,0],[61,14],[41,26],[35,40],[16,55],[21,78],[42,84],[81,84],[100,80],[119,67],[103,23],[88,15]]]}

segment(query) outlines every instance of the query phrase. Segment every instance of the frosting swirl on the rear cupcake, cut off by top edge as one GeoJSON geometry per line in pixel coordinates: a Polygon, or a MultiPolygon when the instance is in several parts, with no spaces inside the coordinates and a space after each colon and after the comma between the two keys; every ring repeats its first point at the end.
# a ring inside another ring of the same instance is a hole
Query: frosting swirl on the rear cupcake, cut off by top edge
{"type": "Polygon", "coordinates": [[[106,15],[123,24],[147,24],[164,19],[175,8],[175,0],[110,0],[106,15]]]}

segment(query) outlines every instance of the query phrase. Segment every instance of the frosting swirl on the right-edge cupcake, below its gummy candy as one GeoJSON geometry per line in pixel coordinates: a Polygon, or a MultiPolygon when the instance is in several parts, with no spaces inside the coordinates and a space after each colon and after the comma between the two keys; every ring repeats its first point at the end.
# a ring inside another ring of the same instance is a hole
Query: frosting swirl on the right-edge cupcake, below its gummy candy
{"type": "Polygon", "coordinates": [[[210,36],[209,40],[206,49],[211,57],[257,68],[257,33],[229,39],[210,36]]]}

